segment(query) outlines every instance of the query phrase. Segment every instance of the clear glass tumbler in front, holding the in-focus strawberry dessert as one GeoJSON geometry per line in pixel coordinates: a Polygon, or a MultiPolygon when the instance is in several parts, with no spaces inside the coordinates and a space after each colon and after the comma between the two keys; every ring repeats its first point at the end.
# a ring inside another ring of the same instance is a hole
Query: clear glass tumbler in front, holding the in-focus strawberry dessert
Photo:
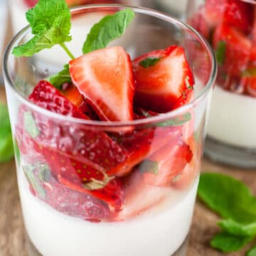
{"type": "MultiPolygon", "coordinates": [[[[88,24],[87,18],[97,21],[124,8],[86,6],[72,14],[88,24]]],[[[4,78],[19,149],[23,218],[43,255],[174,255],[188,235],[215,58],[186,24],[149,9],[131,9],[134,21],[112,44],[124,47],[132,58],[171,44],[183,46],[196,79],[191,103],[132,122],[88,121],[49,112],[28,95],[38,80],[61,68],[55,59],[65,63],[65,53],[55,46],[33,58],[15,58],[11,50],[31,38],[29,27],[6,49],[4,78]],[[80,181],[81,171],[100,178],[80,181]]],[[[73,41],[70,48],[80,48],[84,38],[78,34],[73,41]]]]}

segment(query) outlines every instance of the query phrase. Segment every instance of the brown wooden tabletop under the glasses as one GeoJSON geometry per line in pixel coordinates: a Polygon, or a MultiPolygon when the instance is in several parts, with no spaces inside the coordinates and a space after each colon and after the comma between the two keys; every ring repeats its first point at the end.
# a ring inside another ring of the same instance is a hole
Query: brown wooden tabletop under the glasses
{"type": "MultiPolygon", "coordinates": [[[[3,89],[0,87],[0,101],[4,100],[3,95],[3,89]]],[[[233,175],[235,178],[240,178],[256,194],[256,170],[247,171],[220,166],[211,163],[207,159],[203,160],[202,169],[203,171],[217,171],[223,174],[233,175]]],[[[217,215],[203,206],[200,201],[196,202],[193,223],[188,235],[187,256],[245,255],[248,247],[240,252],[230,254],[223,254],[210,248],[208,242],[218,232],[217,220],[217,215]]],[[[0,164],[0,256],[32,255],[37,254],[31,248],[26,237],[18,198],[15,164],[14,161],[10,161],[6,164],[0,164]]]]}

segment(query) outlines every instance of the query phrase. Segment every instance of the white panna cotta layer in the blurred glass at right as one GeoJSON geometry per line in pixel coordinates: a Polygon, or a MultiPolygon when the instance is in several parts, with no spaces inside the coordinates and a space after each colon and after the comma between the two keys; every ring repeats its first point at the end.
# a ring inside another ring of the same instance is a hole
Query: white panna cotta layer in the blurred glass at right
{"type": "Polygon", "coordinates": [[[219,142],[256,148],[256,99],[215,85],[208,136],[219,142]]]}

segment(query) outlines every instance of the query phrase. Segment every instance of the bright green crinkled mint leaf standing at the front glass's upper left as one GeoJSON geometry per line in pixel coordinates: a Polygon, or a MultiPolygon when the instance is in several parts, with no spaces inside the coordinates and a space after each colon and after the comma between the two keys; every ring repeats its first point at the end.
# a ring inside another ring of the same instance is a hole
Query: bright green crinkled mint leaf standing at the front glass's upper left
{"type": "Polygon", "coordinates": [[[71,41],[71,15],[65,0],[40,0],[27,11],[26,18],[35,36],[14,48],[16,57],[31,57],[43,49],[71,41]]]}

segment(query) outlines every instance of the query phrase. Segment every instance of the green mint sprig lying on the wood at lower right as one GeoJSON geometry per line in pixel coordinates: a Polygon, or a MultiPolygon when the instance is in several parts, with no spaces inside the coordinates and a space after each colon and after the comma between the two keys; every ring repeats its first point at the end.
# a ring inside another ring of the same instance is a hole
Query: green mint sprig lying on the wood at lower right
{"type": "Polygon", "coordinates": [[[223,174],[201,174],[198,196],[225,218],[218,222],[222,231],[210,241],[212,247],[233,252],[256,237],[256,197],[245,183],[223,174]]]}

